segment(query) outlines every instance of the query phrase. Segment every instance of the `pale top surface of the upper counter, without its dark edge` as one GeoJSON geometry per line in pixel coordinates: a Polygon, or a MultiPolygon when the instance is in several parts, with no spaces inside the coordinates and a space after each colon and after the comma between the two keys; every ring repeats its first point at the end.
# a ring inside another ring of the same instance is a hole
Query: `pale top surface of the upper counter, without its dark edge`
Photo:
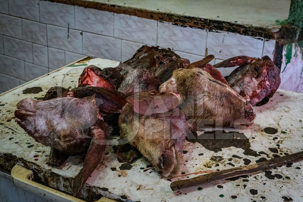
{"type": "Polygon", "coordinates": [[[288,19],[290,0],[88,0],[132,9],[185,15],[240,25],[266,27],[278,31],[280,22],[288,19]]]}

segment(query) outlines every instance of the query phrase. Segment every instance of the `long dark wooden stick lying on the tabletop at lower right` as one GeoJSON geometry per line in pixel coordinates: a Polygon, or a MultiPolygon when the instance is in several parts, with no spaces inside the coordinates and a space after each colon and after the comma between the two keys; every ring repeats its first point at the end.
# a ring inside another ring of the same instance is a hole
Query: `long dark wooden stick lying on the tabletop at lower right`
{"type": "Polygon", "coordinates": [[[303,151],[290,154],[287,156],[282,156],[278,158],[272,158],[267,161],[262,161],[260,163],[251,164],[247,166],[241,166],[241,167],[234,167],[214,173],[208,173],[204,175],[199,175],[197,177],[193,177],[186,180],[178,180],[175,182],[172,182],[170,187],[171,190],[180,190],[187,187],[193,187],[201,184],[211,183],[217,180],[224,180],[231,177],[237,177],[240,175],[248,175],[252,173],[256,173],[259,171],[265,171],[273,167],[285,165],[294,161],[298,161],[303,159],[303,151]]]}

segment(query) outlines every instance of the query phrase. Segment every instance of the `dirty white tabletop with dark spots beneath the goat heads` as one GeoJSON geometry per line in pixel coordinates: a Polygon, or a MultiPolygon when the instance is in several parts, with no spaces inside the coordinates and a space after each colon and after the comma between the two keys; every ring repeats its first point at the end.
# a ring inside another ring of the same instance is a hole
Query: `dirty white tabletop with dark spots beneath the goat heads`
{"type": "MultiPolygon", "coordinates": [[[[62,166],[56,168],[46,165],[50,148],[35,142],[17,125],[13,114],[15,104],[23,98],[42,98],[52,86],[65,88],[77,86],[78,77],[87,65],[105,68],[115,67],[118,64],[119,62],[100,58],[75,63],[0,95],[0,156],[9,153],[62,176],[74,177],[82,168],[82,158],[69,157],[62,166]],[[41,87],[43,91],[37,94],[23,94],[23,90],[31,87],[41,87]]],[[[255,124],[249,130],[240,131],[244,135],[225,134],[223,139],[220,134],[216,134],[213,143],[212,140],[201,141],[202,144],[186,141],[183,152],[184,167],[180,173],[180,176],[185,176],[170,180],[195,177],[197,175],[191,173],[202,174],[217,169],[243,166],[245,162],[251,161],[253,164],[259,159],[265,160],[277,155],[283,156],[302,151],[302,101],[301,93],[278,90],[267,104],[255,107],[257,114],[255,124]],[[267,134],[263,130],[266,127],[275,128],[277,132],[267,134]],[[213,144],[221,144],[221,147],[216,148],[218,152],[210,148],[213,144]]],[[[225,129],[225,131],[235,130],[225,129]]],[[[199,132],[198,139],[206,137],[202,133],[199,132]]],[[[211,135],[208,136],[212,138],[211,135]]],[[[84,196],[92,194],[85,192],[90,188],[94,194],[101,193],[110,198],[134,201],[303,200],[301,194],[303,161],[251,176],[173,192],[169,186],[171,182],[162,178],[144,157],[133,164],[119,163],[114,153],[117,138],[113,137],[113,140],[109,141],[111,145],[106,147],[103,163],[92,173],[82,190],[84,196]]],[[[61,188],[64,190],[64,187],[61,188]]]]}

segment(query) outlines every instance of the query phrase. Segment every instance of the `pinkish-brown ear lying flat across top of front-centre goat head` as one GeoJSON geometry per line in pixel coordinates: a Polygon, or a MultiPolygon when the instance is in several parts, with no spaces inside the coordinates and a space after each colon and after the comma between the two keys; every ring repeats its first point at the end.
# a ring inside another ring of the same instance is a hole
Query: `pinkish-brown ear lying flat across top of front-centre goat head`
{"type": "Polygon", "coordinates": [[[126,98],[126,101],[132,105],[134,112],[151,116],[165,113],[177,107],[181,103],[181,98],[179,94],[171,92],[156,96],[144,96],[136,93],[126,98]]]}

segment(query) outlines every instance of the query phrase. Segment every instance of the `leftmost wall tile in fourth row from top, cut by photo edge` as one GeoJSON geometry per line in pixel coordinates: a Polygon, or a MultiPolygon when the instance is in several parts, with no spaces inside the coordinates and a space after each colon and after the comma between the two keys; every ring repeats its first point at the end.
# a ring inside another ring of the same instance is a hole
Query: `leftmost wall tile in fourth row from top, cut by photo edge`
{"type": "Polygon", "coordinates": [[[24,61],[0,55],[0,64],[0,72],[16,78],[25,79],[24,61]]]}

